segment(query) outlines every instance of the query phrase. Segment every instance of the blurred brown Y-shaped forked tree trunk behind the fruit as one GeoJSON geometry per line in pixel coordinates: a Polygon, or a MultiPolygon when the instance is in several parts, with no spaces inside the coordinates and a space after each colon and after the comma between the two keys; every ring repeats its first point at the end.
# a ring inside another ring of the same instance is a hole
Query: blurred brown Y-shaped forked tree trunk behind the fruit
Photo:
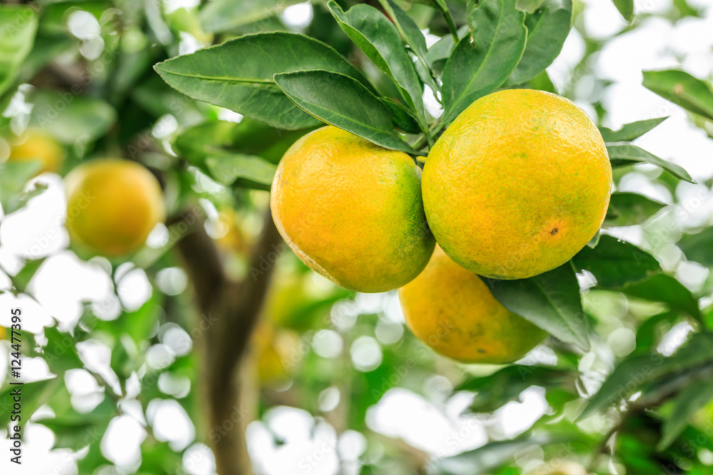
{"type": "Polygon", "coordinates": [[[190,226],[176,247],[193,283],[205,329],[201,342],[202,376],[208,442],[215,454],[216,471],[218,475],[248,475],[252,469],[245,427],[252,410],[240,397],[243,384],[240,369],[270,283],[272,263],[281,250],[281,240],[268,209],[262,234],[250,254],[250,271],[242,281],[235,282],[227,278],[220,254],[195,212],[173,221],[190,226]]]}

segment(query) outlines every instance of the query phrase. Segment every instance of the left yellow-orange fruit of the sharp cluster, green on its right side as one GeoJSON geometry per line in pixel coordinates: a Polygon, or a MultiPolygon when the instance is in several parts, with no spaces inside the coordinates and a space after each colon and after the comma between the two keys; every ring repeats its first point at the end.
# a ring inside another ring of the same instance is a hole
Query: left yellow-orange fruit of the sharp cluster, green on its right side
{"type": "Polygon", "coordinates": [[[337,127],[294,142],[271,190],[272,218],[284,241],[344,288],[399,288],[419,275],[434,249],[414,160],[337,127]]]}

